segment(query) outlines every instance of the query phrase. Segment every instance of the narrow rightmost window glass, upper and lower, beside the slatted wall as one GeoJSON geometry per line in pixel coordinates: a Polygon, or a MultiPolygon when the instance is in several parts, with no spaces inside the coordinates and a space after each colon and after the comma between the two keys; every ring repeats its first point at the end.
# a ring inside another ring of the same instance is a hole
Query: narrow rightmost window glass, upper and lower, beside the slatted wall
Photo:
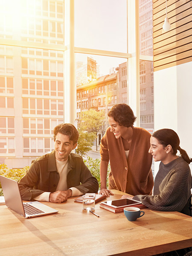
{"type": "MultiPolygon", "coordinates": [[[[139,1],[140,56],[153,56],[152,2],[139,1]]],[[[140,60],[140,126],[151,134],[154,132],[153,89],[153,61],[140,60]]]]}

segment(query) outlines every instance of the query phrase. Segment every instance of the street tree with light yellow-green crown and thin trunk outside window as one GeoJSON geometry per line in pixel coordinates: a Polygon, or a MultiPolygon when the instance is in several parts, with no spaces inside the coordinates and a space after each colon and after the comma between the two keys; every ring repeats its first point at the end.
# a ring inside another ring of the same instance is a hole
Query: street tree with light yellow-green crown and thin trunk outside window
{"type": "Polygon", "coordinates": [[[90,109],[88,111],[81,112],[81,116],[78,119],[79,128],[81,131],[87,131],[93,133],[96,136],[96,150],[97,150],[97,137],[102,132],[102,125],[104,124],[105,113],[103,111],[96,111],[90,109]]]}

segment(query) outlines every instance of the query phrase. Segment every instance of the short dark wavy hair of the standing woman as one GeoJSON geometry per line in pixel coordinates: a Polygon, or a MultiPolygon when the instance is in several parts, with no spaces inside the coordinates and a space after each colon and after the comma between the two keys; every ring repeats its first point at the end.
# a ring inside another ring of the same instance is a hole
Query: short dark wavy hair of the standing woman
{"type": "Polygon", "coordinates": [[[132,109],[127,104],[116,104],[108,112],[108,116],[113,117],[115,122],[125,127],[133,126],[137,117],[134,116],[132,109]]]}

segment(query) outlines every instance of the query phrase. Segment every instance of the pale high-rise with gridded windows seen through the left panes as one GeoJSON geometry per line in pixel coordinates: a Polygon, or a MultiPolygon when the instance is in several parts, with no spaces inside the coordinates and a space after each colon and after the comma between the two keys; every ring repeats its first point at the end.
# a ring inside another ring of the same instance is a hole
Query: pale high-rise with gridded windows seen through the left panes
{"type": "MultiPolygon", "coordinates": [[[[7,5],[0,2],[0,38],[63,44],[62,0],[22,1],[21,17],[7,5]],[[16,18],[19,30],[10,22],[16,18]]],[[[9,168],[54,149],[53,128],[64,115],[63,60],[61,51],[0,45],[0,163],[9,168]]]]}

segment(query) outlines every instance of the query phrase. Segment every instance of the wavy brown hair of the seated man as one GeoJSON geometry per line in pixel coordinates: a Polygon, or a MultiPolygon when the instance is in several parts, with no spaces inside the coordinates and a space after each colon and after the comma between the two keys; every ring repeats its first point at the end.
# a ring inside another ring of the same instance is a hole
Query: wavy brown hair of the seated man
{"type": "Polygon", "coordinates": [[[79,139],[79,132],[77,131],[76,127],[72,124],[59,124],[55,126],[53,130],[54,141],[58,132],[64,135],[68,135],[69,139],[73,141],[73,145],[76,144],[79,139]]]}

